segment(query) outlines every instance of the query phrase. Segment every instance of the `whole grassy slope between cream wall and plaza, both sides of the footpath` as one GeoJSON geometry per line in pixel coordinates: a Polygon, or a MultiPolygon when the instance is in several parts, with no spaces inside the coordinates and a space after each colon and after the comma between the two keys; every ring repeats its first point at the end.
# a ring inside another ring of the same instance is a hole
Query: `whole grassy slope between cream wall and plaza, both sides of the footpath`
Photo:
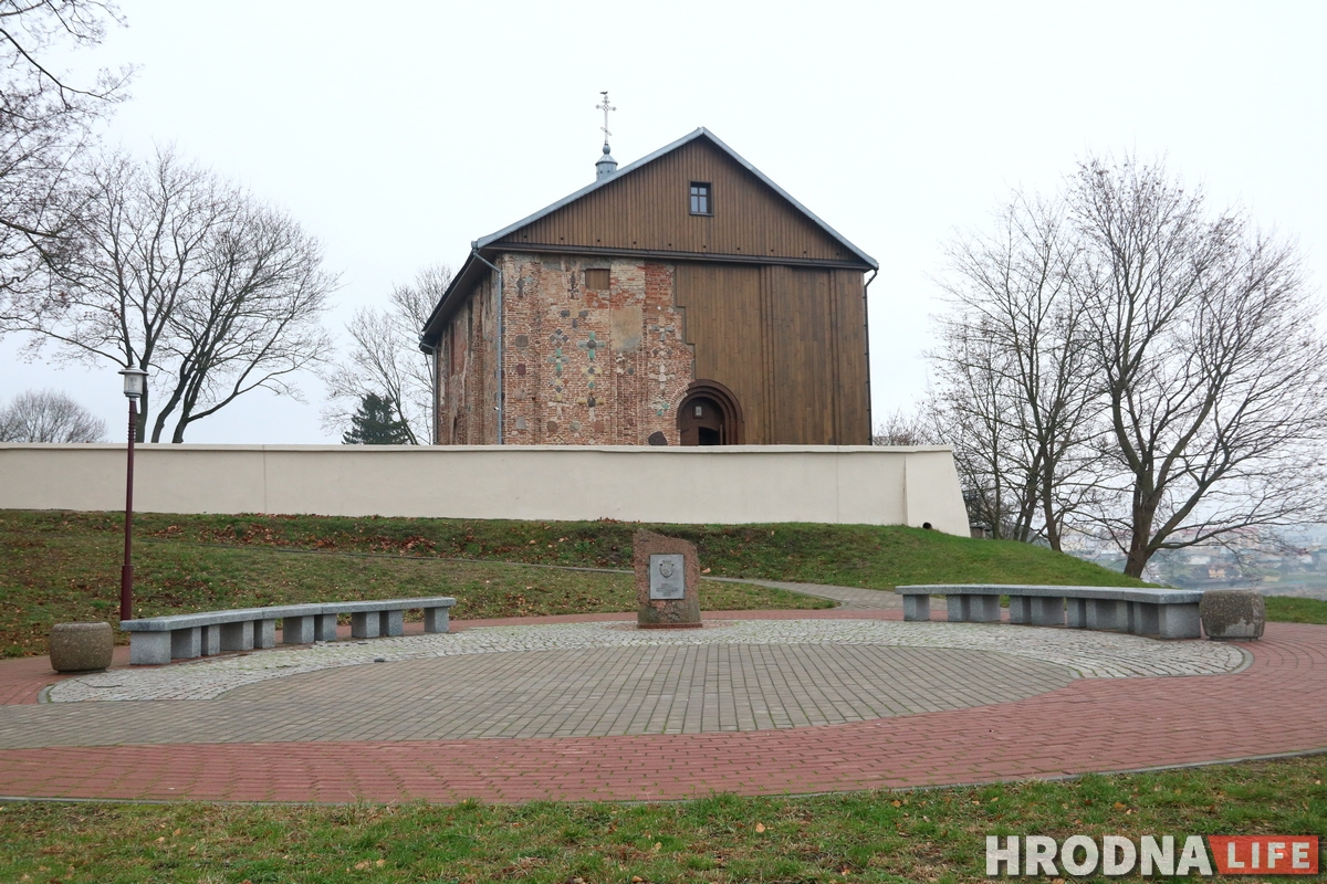
{"type": "MultiPolygon", "coordinates": [[[[503,563],[630,569],[640,527],[690,539],[715,577],[881,590],[949,582],[1139,584],[1042,547],[908,527],[142,514],[135,610],[151,616],[446,592],[458,598],[458,619],[626,611],[634,606],[629,577],[503,563]]],[[[44,653],[58,620],[114,618],[122,530],[121,517],[107,513],[0,512],[0,653],[44,653]]],[[[710,610],[829,606],[731,583],[706,583],[703,591],[710,610]]],[[[1267,606],[1271,619],[1327,622],[1323,602],[1267,606]]]]}

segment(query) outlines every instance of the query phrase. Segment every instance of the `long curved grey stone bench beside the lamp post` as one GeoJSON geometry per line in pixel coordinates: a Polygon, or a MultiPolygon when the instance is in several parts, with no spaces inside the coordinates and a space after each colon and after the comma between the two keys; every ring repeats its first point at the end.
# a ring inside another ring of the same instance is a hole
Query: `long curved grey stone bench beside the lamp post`
{"type": "Polygon", "coordinates": [[[350,615],[350,635],[356,639],[402,635],[405,612],[410,610],[423,611],[425,632],[447,632],[449,610],[455,603],[456,599],[439,595],[281,604],[122,620],[119,628],[133,634],[129,640],[130,664],[161,665],[171,660],[275,647],[277,620],[281,620],[283,644],[336,641],[336,620],[340,614],[350,615]]]}

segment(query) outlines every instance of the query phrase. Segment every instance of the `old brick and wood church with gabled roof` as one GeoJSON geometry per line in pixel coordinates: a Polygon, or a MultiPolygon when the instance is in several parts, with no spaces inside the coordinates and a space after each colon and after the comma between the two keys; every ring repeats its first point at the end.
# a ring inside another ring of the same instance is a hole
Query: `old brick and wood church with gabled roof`
{"type": "Polygon", "coordinates": [[[869,444],[874,258],[706,129],[596,167],[434,309],[438,443],[869,444]]]}

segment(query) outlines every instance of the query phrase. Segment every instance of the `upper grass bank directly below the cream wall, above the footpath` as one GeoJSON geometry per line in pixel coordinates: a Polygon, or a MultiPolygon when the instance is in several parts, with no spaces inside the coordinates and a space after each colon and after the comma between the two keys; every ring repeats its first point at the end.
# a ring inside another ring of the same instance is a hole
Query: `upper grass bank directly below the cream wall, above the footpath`
{"type": "MultiPolygon", "coordinates": [[[[73,527],[106,535],[122,517],[0,513],[0,529],[73,527]],[[68,522],[68,525],[65,525],[68,522]]],[[[583,565],[629,569],[632,534],[650,529],[697,545],[715,575],[888,590],[900,583],[1011,582],[1139,586],[1137,580],[1026,543],[971,541],[938,531],[869,525],[640,525],[318,516],[159,516],[135,518],[138,537],[240,546],[583,565]]]]}

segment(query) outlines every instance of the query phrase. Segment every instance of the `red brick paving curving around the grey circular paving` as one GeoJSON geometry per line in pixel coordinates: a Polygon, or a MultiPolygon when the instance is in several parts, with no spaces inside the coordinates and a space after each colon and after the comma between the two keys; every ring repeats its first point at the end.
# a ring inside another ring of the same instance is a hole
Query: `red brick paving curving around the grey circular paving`
{"type": "MultiPolygon", "coordinates": [[[[867,615],[747,611],[706,616],[867,615]]],[[[893,619],[897,612],[877,616],[893,619]]],[[[1018,702],[824,728],[667,737],[3,750],[0,795],[640,801],[711,791],[815,793],[1058,777],[1327,749],[1327,704],[1322,701],[1327,696],[1327,627],[1270,623],[1262,641],[1245,647],[1254,663],[1233,675],[1084,679],[1018,702]]],[[[0,665],[0,697],[24,702],[35,696],[32,685],[41,680],[35,665],[28,660],[0,665]]]]}

